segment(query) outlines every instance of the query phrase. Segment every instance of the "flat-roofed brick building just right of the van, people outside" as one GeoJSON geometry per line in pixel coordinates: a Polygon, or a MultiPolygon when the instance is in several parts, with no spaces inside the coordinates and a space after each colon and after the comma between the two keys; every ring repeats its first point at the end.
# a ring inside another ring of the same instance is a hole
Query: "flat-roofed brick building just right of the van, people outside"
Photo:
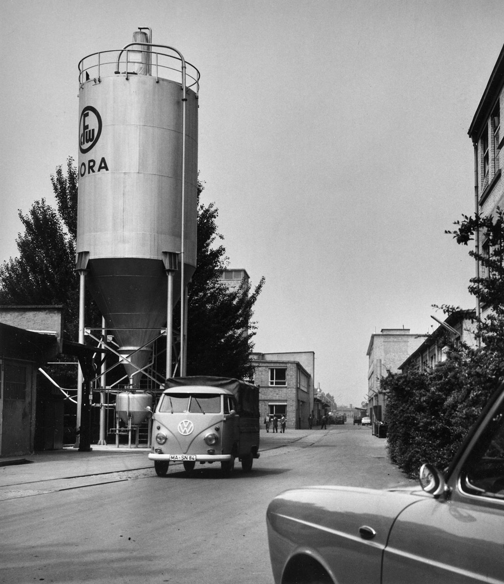
{"type": "Polygon", "coordinates": [[[261,422],[266,415],[284,415],[287,428],[307,428],[314,413],[315,353],[252,353],[251,361],[261,422]]]}

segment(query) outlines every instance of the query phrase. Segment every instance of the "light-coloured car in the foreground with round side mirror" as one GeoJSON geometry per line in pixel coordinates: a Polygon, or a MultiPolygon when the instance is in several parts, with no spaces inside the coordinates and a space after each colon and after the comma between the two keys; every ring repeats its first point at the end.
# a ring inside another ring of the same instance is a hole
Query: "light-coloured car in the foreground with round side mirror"
{"type": "Polygon", "coordinates": [[[504,384],[449,467],[378,491],[292,489],[266,515],[276,584],[504,583],[504,384]]]}

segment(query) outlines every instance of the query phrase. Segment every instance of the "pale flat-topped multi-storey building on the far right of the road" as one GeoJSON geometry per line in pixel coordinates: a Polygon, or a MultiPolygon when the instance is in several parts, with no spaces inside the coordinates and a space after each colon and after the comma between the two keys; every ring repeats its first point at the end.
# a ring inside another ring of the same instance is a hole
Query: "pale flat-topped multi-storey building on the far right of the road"
{"type": "Polygon", "coordinates": [[[397,372],[406,357],[418,349],[426,336],[414,335],[405,328],[381,329],[381,332],[371,335],[367,347],[367,399],[372,427],[381,422],[385,415],[385,400],[380,389],[381,378],[387,375],[387,371],[397,372]]]}

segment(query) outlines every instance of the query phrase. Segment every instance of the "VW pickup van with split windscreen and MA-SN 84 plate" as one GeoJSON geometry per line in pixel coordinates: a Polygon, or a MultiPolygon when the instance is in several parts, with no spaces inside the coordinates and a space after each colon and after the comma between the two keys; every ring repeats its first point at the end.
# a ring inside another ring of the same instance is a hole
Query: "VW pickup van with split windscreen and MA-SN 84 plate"
{"type": "Polygon", "coordinates": [[[150,460],[162,477],[170,463],[187,472],[196,463],[220,463],[245,472],[259,458],[259,388],[223,377],[173,377],[152,413],[150,460]]]}

